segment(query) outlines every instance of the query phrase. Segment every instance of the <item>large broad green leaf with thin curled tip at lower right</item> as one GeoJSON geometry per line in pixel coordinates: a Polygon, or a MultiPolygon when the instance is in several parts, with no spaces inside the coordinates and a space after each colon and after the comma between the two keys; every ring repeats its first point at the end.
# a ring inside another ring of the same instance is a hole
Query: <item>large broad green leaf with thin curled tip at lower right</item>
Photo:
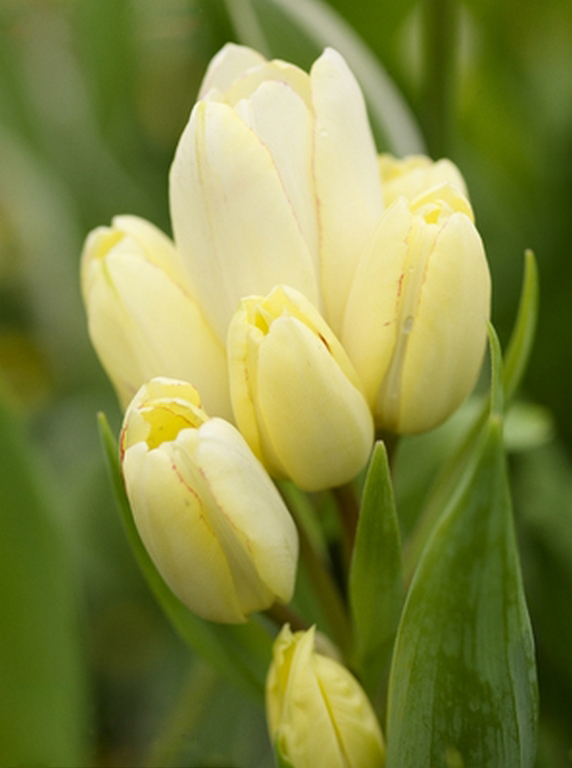
{"type": "MultiPolygon", "coordinates": [[[[494,336],[492,355],[498,394],[494,336]]],[[[406,600],[390,676],[387,768],[532,768],[537,717],[502,420],[492,410],[406,600]]]]}

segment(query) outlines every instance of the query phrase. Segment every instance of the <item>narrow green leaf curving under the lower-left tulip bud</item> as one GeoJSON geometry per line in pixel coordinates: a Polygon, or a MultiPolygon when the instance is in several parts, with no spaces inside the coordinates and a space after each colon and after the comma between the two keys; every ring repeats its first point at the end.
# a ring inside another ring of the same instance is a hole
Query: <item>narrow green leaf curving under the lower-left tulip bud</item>
{"type": "Polygon", "coordinates": [[[217,670],[259,700],[264,696],[266,673],[270,665],[272,641],[263,627],[247,624],[215,624],[192,614],[175,597],[149,557],[131,514],[119,465],[117,442],[104,414],[99,427],[107,464],[127,538],[143,575],[158,603],[183,640],[217,670]]]}

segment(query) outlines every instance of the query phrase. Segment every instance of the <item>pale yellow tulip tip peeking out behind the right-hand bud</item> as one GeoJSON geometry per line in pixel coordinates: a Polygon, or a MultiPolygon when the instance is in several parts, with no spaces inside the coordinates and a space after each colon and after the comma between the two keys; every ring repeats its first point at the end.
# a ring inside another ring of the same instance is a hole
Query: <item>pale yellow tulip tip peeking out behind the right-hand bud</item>
{"type": "Polygon", "coordinates": [[[382,154],[378,162],[386,207],[398,197],[403,196],[413,201],[419,195],[443,184],[452,184],[468,199],[467,186],[460,170],[447,158],[434,162],[425,155],[397,158],[382,154]]]}

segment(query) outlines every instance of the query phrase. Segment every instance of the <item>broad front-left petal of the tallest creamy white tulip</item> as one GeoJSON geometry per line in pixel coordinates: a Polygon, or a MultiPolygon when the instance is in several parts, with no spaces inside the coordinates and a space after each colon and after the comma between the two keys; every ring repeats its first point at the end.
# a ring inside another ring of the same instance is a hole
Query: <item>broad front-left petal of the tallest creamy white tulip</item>
{"type": "Polygon", "coordinates": [[[312,259],[272,156],[227,105],[196,105],[170,199],[175,240],[221,339],[243,296],[287,283],[317,301],[312,259]]]}

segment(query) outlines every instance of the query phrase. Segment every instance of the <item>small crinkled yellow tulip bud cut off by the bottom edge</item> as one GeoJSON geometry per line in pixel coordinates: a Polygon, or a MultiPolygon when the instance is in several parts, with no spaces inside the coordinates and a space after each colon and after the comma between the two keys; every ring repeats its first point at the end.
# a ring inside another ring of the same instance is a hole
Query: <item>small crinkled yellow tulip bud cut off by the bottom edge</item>
{"type": "Polygon", "coordinates": [[[350,672],[314,651],[314,628],[274,643],[266,715],[280,765],[382,768],[385,746],[371,704],[350,672]]]}

